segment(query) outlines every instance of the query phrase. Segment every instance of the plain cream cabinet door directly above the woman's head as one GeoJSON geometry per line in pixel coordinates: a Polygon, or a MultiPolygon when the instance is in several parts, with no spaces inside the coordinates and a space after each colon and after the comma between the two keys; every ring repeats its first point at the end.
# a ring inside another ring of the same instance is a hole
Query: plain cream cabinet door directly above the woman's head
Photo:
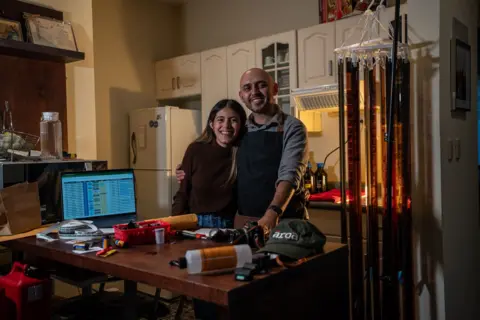
{"type": "Polygon", "coordinates": [[[202,127],[207,124],[213,106],[227,98],[227,48],[201,53],[202,61],[202,127]]]}

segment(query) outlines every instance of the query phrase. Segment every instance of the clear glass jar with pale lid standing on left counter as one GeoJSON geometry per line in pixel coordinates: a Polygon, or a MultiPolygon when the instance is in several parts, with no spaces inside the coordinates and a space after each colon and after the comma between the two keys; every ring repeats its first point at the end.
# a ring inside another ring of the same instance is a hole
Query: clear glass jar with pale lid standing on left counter
{"type": "Polygon", "coordinates": [[[40,147],[42,159],[63,158],[62,122],[58,112],[42,112],[40,147]]]}

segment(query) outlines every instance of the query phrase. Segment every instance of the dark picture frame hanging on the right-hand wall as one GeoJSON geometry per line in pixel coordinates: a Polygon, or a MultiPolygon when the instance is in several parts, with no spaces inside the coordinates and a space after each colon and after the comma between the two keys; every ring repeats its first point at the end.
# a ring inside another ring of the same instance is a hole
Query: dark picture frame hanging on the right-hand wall
{"type": "Polygon", "coordinates": [[[468,43],[453,38],[451,41],[452,111],[471,111],[472,57],[468,43]]]}

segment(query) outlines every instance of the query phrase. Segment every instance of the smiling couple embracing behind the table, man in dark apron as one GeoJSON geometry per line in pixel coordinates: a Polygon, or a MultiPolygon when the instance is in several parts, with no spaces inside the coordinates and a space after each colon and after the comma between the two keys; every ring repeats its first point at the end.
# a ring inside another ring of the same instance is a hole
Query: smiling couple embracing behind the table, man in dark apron
{"type": "Polygon", "coordinates": [[[307,219],[303,175],[308,147],[303,123],[284,114],[278,85],[262,69],[245,72],[240,99],[221,100],[202,135],[177,169],[180,189],[172,213],[201,214],[200,225],[241,227],[247,220],[272,229],[282,218],[307,219]],[[238,213],[238,214],[237,214],[238,213]]]}

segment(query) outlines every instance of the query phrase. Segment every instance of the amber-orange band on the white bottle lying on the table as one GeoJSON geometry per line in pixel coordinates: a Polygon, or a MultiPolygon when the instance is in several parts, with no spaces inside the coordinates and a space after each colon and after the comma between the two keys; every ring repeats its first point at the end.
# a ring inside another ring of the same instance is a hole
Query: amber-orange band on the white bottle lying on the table
{"type": "Polygon", "coordinates": [[[202,272],[232,269],[237,266],[237,252],[233,246],[206,248],[200,251],[202,272]]]}

